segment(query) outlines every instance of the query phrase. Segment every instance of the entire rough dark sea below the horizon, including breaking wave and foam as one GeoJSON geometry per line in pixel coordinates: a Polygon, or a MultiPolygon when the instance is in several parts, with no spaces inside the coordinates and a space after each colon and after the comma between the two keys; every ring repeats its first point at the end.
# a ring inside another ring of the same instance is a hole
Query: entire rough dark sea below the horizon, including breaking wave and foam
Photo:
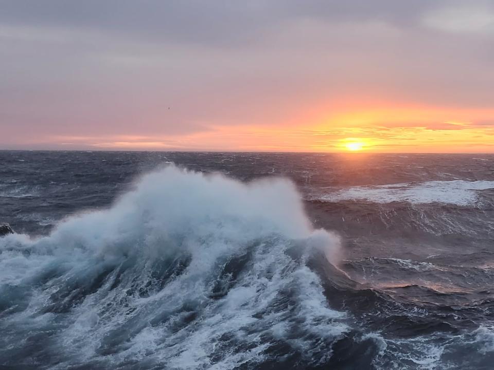
{"type": "Polygon", "coordinates": [[[494,368],[494,155],[0,163],[0,368],[494,368]]]}

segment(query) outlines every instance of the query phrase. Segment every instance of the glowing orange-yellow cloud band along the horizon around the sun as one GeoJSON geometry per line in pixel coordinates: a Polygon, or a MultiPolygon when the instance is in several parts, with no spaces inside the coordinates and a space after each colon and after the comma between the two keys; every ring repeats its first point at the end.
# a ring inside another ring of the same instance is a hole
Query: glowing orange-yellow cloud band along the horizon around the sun
{"type": "Polygon", "coordinates": [[[395,102],[333,102],[301,107],[288,122],[209,124],[171,135],[47,136],[33,145],[102,150],[340,152],[494,152],[494,109],[395,102]],[[351,146],[351,145],[350,145],[351,146]]]}

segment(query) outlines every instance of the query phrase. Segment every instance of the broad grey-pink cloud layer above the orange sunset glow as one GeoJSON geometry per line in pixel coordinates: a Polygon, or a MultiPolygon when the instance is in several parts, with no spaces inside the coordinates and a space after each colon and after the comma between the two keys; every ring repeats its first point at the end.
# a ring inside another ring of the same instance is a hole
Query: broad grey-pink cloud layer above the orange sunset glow
{"type": "Polygon", "coordinates": [[[492,43],[421,23],[452,3],[0,0],[0,126],[175,135],[342,97],[492,108],[492,43]]]}

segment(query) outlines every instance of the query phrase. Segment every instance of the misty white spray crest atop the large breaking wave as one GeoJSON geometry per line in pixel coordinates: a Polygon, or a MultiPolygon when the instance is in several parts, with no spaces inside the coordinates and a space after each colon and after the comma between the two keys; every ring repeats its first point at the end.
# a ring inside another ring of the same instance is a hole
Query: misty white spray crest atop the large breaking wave
{"type": "Polygon", "coordinates": [[[288,180],[243,184],[218,174],[168,167],[144,176],[112,208],[71,217],[34,244],[104,253],[127,253],[135,247],[153,252],[160,245],[184,248],[181,242],[190,235],[238,243],[273,232],[303,238],[311,231],[288,180]]]}

